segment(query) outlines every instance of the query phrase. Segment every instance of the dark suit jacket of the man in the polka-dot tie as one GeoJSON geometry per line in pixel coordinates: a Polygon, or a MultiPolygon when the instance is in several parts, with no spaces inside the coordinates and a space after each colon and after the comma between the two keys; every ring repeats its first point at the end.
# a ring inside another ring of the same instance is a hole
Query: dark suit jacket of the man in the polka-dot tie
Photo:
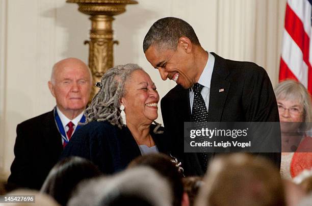
{"type": "MultiPolygon", "coordinates": [[[[252,62],[238,62],[215,57],[212,73],[210,122],[278,122],[276,98],[267,72],[252,62]],[[219,92],[219,89],[224,92],[219,92]]],[[[166,134],[171,137],[173,154],[183,160],[185,174],[203,175],[196,153],[184,153],[184,122],[191,121],[189,89],[180,85],[161,100],[166,134]]],[[[280,138],[275,140],[280,145],[280,138]]],[[[280,165],[280,153],[261,153],[280,165]]]]}

